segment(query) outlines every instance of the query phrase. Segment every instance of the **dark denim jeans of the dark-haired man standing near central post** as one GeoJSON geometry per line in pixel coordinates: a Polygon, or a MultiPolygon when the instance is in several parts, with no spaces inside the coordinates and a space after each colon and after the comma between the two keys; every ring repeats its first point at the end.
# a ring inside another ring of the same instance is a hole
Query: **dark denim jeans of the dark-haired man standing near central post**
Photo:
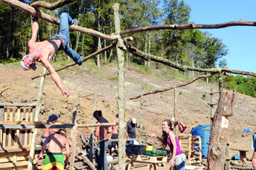
{"type": "Polygon", "coordinates": [[[106,148],[108,147],[108,139],[100,141],[96,147],[95,161],[97,164],[97,170],[108,170],[108,160],[106,158],[106,148]]]}

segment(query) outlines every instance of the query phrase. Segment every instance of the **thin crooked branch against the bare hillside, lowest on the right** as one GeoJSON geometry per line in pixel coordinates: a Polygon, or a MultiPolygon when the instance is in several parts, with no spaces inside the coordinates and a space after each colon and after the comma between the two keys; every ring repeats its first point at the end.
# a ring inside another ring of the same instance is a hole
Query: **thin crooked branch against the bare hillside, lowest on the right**
{"type": "Polygon", "coordinates": [[[188,82],[185,82],[183,84],[178,84],[178,85],[175,85],[175,86],[172,86],[171,88],[164,88],[162,90],[155,90],[153,92],[149,92],[149,93],[144,93],[142,95],[137,95],[136,97],[133,97],[133,98],[130,98],[130,100],[132,99],[138,99],[139,97],[142,97],[144,95],[149,95],[149,94],[155,94],[155,93],[161,93],[161,92],[166,92],[168,90],[172,90],[173,88],[180,88],[182,86],[186,86],[188,84],[191,84],[192,82],[198,80],[198,79],[201,79],[201,78],[207,78],[207,77],[210,77],[210,76],[213,76],[213,75],[216,75],[217,73],[211,73],[210,75],[201,75],[201,76],[198,76],[198,77],[195,77],[195,78],[192,78],[191,80],[189,80],[188,82]]]}

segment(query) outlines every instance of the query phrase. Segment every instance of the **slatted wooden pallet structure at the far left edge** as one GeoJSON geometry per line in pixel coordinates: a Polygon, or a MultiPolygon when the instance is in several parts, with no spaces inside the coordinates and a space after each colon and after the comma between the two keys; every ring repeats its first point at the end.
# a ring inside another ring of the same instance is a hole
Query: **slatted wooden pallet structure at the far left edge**
{"type": "MultiPolygon", "coordinates": [[[[33,122],[35,107],[28,103],[0,103],[0,121],[33,122]]],[[[28,169],[31,142],[32,129],[0,129],[0,169],[28,169]]]]}

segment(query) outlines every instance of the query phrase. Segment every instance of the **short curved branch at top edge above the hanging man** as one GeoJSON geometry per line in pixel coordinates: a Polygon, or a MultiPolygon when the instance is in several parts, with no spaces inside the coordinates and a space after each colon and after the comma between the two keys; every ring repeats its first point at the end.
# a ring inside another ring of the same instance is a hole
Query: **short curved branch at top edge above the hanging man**
{"type": "Polygon", "coordinates": [[[69,3],[72,3],[74,1],[79,1],[79,0],[58,0],[55,3],[46,3],[45,1],[37,1],[37,2],[32,3],[31,6],[34,8],[42,7],[44,9],[54,10],[54,9],[58,9],[64,5],[67,5],[69,3]]]}

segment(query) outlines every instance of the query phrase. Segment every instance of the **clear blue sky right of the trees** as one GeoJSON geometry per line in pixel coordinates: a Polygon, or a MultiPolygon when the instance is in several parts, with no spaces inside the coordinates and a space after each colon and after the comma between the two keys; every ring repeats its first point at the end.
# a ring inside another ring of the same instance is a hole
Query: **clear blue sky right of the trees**
{"type": "MultiPolygon", "coordinates": [[[[190,22],[221,24],[238,20],[256,22],[256,0],[184,0],[189,5],[190,22]]],[[[236,26],[221,29],[200,29],[223,40],[228,54],[228,69],[256,72],[256,27],[236,26]]],[[[218,64],[219,67],[219,64],[218,64]]]]}

